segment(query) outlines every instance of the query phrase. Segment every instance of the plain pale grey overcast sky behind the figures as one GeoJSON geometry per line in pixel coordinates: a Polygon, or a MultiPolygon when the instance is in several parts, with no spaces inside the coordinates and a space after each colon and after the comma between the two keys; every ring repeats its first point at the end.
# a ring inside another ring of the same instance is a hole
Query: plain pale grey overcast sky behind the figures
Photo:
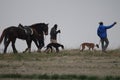
{"type": "MultiPolygon", "coordinates": [[[[99,43],[97,28],[99,22],[104,25],[117,24],[107,31],[108,49],[120,48],[120,0],[0,0],[0,35],[10,26],[49,23],[49,32],[54,24],[61,33],[58,42],[66,49],[76,49],[83,42],[99,43]]],[[[45,36],[45,45],[50,36],[45,36]]],[[[17,39],[16,48],[23,51],[25,40],[17,39]]],[[[0,44],[0,52],[4,49],[0,44]]],[[[36,46],[32,43],[32,50],[36,46]]],[[[11,44],[8,51],[12,51],[11,44]]]]}

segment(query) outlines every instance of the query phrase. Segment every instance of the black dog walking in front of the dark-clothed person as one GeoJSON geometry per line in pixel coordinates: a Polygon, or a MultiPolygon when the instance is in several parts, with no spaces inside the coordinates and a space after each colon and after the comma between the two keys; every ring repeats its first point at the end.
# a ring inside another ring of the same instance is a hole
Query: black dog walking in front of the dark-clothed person
{"type": "Polygon", "coordinates": [[[48,53],[49,50],[51,50],[51,52],[53,52],[53,48],[52,47],[54,47],[56,49],[56,53],[59,52],[59,47],[61,47],[62,49],[64,49],[64,46],[62,44],[60,44],[60,43],[49,43],[47,45],[47,47],[46,47],[45,52],[48,53]]]}

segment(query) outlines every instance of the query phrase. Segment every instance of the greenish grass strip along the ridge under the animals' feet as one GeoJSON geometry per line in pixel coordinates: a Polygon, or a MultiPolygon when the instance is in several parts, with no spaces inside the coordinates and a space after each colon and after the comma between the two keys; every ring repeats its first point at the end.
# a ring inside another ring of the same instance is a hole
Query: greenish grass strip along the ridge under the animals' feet
{"type": "Polygon", "coordinates": [[[80,52],[78,49],[74,50],[64,50],[60,53],[9,53],[9,54],[0,54],[0,60],[13,60],[13,61],[41,61],[42,59],[52,58],[52,57],[63,57],[63,56],[84,56],[84,57],[120,57],[120,49],[109,50],[107,53],[102,53],[101,51],[83,51],[80,52]]]}

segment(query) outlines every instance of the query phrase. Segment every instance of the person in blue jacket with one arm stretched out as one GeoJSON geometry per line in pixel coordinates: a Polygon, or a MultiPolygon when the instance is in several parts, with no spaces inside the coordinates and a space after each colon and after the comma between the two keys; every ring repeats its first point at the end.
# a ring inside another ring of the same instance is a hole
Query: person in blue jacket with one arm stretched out
{"type": "Polygon", "coordinates": [[[99,23],[99,27],[97,29],[97,35],[100,37],[101,47],[102,47],[103,52],[106,52],[106,49],[109,45],[109,40],[107,38],[107,29],[112,28],[115,24],[116,24],[116,22],[114,22],[110,26],[104,26],[103,22],[99,23]]]}

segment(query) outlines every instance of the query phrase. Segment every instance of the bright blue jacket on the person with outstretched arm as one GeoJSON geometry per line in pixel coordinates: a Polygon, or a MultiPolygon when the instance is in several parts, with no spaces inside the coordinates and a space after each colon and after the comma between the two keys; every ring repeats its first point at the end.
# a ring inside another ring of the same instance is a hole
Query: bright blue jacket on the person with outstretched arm
{"type": "Polygon", "coordinates": [[[112,28],[116,23],[113,23],[110,26],[104,26],[104,25],[99,25],[98,29],[97,29],[97,35],[101,38],[107,38],[107,29],[112,28]]]}

